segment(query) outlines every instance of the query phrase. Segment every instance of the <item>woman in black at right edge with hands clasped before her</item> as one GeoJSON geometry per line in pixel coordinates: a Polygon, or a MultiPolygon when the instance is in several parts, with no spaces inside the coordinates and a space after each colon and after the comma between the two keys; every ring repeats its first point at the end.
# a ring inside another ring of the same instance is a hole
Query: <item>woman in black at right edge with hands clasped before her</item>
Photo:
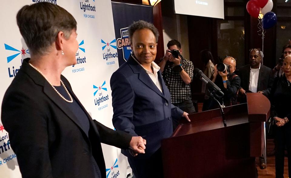
{"type": "Polygon", "coordinates": [[[271,115],[276,126],[275,131],[275,167],[276,178],[283,178],[285,146],[288,152],[288,173],[291,176],[291,55],[283,62],[284,74],[276,77],[271,89],[271,115]]]}

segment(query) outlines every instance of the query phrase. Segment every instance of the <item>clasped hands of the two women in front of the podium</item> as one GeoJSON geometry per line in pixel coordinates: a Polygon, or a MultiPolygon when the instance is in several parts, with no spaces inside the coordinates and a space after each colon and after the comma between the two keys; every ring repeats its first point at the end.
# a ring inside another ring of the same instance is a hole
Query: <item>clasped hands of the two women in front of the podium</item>
{"type": "Polygon", "coordinates": [[[129,153],[132,156],[136,156],[139,153],[145,153],[146,140],[142,139],[141,136],[133,136],[129,143],[129,153]]]}

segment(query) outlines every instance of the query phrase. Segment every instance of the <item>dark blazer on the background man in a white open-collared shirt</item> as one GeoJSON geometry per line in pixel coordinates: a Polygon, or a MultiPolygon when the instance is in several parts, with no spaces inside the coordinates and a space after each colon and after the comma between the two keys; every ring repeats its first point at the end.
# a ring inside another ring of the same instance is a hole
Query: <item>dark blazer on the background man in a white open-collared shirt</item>
{"type": "MultiPolygon", "coordinates": [[[[245,65],[239,69],[239,77],[241,78],[240,86],[244,90],[249,90],[249,72],[250,72],[250,64],[245,65]]],[[[272,73],[272,69],[266,67],[261,64],[259,80],[258,80],[258,91],[264,92],[264,95],[269,96],[272,85],[274,82],[274,74],[272,73]]]]}

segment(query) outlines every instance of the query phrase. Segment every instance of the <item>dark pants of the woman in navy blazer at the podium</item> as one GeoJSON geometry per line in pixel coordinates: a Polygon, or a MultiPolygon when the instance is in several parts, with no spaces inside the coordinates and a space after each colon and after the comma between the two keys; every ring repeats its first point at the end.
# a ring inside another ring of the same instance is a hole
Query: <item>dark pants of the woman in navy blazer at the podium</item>
{"type": "Polygon", "coordinates": [[[128,157],[135,178],[163,178],[162,151],[158,149],[149,159],[128,157]]]}

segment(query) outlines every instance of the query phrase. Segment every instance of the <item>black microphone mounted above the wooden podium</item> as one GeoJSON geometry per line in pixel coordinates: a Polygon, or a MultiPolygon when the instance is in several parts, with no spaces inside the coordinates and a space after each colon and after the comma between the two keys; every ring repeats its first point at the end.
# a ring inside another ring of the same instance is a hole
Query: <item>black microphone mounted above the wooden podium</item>
{"type": "Polygon", "coordinates": [[[224,95],[221,89],[217,85],[215,85],[208,77],[206,77],[200,69],[195,68],[194,75],[202,80],[204,83],[206,83],[209,92],[215,94],[216,97],[221,98],[224,95]]]}

